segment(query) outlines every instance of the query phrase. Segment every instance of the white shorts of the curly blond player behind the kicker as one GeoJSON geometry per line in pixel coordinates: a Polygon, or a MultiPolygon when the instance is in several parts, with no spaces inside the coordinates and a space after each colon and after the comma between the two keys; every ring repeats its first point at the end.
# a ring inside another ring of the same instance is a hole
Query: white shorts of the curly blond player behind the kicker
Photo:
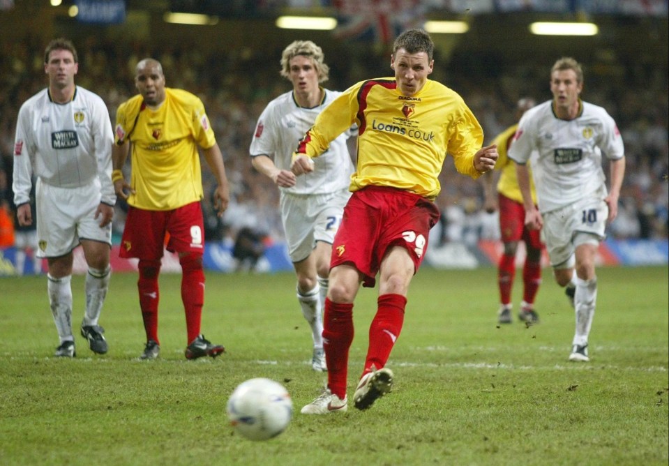
{"type": "Polygon", "coordinates": [[[349,197],[347,189],[310,195],[281,193],[281,221],[292,262],[309,257],[316,241],[333,243],[349,197]]]}

